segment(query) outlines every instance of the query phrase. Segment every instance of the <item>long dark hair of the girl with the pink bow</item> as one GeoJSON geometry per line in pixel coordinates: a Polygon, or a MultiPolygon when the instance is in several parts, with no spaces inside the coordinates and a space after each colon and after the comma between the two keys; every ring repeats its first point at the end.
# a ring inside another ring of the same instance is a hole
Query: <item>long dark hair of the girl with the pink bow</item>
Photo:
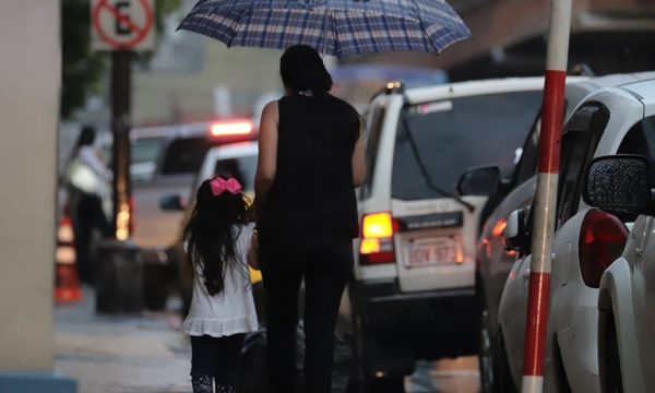
{"type": "Polygon", "coordinates": [[[239,236],[235,226],[248,223],[248,201],[241,192],[231,194],[225,191],[214,195],[210,184],[212,180],[203,181],[198,189],[195,207],[184,228],[184,239],[193,273],[198,274],[195,266],[201,267],[204,284],[213,296],[223,290],[228,265],[248,275],[246,265],[237,261],[235,249],[235,240],[239,236]]]}

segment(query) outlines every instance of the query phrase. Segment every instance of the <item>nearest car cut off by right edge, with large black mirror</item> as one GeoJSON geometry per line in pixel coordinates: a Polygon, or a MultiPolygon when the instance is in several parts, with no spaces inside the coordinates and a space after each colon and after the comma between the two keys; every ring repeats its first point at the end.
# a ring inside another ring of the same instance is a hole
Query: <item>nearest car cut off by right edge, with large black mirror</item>
{"type": "Polygon", "coordinates": [[[643,155],[606,156],[590,169],[585,201],[608,212],[642,214],[631,226],[623,254],[600,279],[598,364],[602,392],[655,389],[655,210],[653,158],[655,116],[641,123],[643,155]]]}

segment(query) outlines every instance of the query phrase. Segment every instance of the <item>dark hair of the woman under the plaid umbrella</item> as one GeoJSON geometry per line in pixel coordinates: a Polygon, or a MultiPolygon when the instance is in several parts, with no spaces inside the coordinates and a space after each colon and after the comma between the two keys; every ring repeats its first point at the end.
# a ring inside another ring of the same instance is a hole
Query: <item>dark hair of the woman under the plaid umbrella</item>
{"type": "Polygon", "coordinates": [[[284,51],[279,59],[279,75],[285,87],[294,93],[311,91],[318,95],[332,88],[332,76],[319,52],[307,45],[294,45],[284,51]]]}

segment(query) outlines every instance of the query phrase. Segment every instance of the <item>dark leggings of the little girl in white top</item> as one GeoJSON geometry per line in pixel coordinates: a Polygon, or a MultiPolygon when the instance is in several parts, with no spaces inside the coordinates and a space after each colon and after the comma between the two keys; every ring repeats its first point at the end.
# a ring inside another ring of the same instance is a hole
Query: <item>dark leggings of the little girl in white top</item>
{"type": "Polygon", "coordinates": [[[239,358],[246,334],[224,337],[191,336],[191,383],[194,393],[233,393],[237,389],[239,358]]]}

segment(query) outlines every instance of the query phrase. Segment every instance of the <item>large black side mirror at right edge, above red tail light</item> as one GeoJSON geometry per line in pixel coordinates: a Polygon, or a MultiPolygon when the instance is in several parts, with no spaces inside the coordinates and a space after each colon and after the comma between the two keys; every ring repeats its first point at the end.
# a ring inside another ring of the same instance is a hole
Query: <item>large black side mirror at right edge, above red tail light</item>
{"type": "Polygon", "coordinates": [[[583,199],[608,212],[648,213],[652,209],[648,159],[611,155],[594,159],[585,172],[583,199]]]}

